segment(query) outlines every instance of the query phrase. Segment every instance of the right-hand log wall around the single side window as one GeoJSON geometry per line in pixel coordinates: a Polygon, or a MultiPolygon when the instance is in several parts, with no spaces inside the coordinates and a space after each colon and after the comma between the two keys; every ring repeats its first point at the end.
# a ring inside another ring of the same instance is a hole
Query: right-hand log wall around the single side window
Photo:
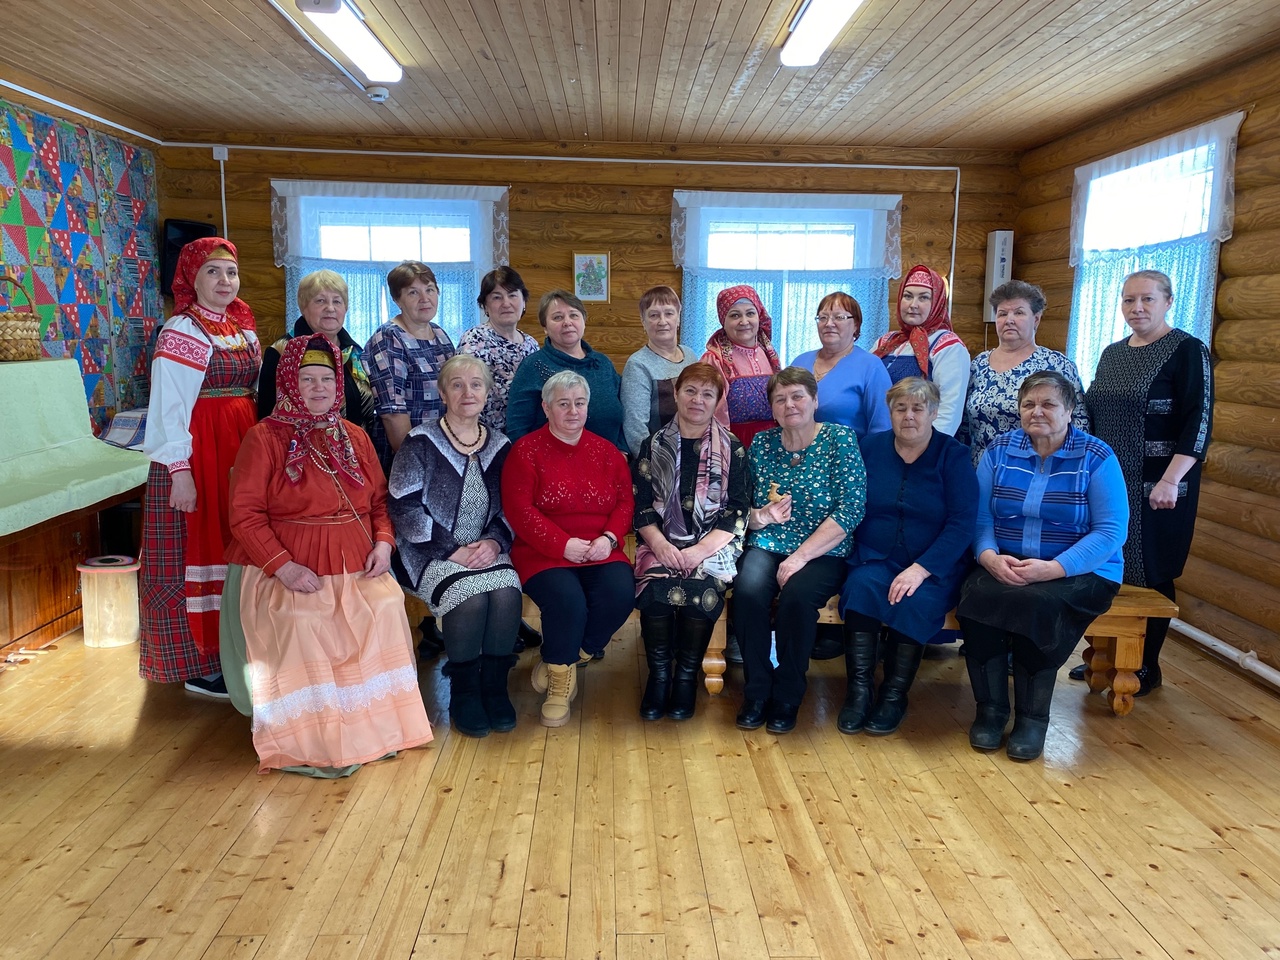
{"type": "MultiPolygon", "coordinates": [[[[1021,160],[1015,275],[1044,288],[1062,349],[1075,168],[1235,110],[1235,233],[1213,317],[1217,403],[1181,618],[1280,666],[1280,56],[1271,54],[1064,137],[1021,160]]],[[[1174,292],[1176,296],[1176,291],[1174,292]]],[[[1116,292],[1119,297],[1119,291],[1116,292]]],[[[1176,310],[1176,303],[1175,307],[1176,310]]]]}

